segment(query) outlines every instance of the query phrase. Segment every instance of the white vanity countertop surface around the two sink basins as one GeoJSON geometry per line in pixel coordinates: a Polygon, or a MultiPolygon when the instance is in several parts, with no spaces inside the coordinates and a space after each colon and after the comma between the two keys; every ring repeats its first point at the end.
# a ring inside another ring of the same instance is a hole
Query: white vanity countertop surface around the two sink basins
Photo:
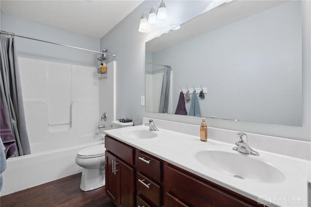
{"type": "MultiPolygon", "coordinates": [[[[236,137],[234,137],[232,140],[229,139],[229,142],[219,141],[217,140],[217,136],[215,136],[215,134],[217,134],[215,132],[215,129],[210,129],[210,131],[213,131],[212,138],[215,139],[207,137],[207,142],[202,142],[200,141],[199,136],[195,136],[196,134],[199,134],[199,125],[184,123],[176,124],[176,122],[173,122],[173,125],[175,124],[175,126],[172,125],[172,130],[169,130],[171,121],[154,121],[158,128],[160,126],[163,126],[163,128],[159,128],[159,132],[155,132],[158,133],[158,136],[156,138],[127,138],[126,136],[124,136],[124,133],[126,132],[126,130],[129,130],[129,128],[112,129],[104,131],[104,133],[135,148],[138,148],[139,150],[142,150],[169,163],[172,163],[184,170],[189,171],[190,173],[194,173],[227,189],[238,192],[252,200],[260,201],[259,199],[261,198],[265,199],[263,202],[265,202],[265,204],[269,207],[308,206],[307,185],[311,162],[310,160],[300,158],[303,157],[303,155],[297,155],[297,157],[299,158],[288,155],[280,155],[276,154],[275,152],[259,150],[258,148],[255,148],[252,146],[252,144],[250,144],[250,146],[254,150],[259,152],[260,155],[257,156],[259,157],[259,159],[266,159],[266,157],[268,157],[269,159],[270,157],[271,160],[273,160],[274,167],[284,173],[286,178],[284,181],[278,183],[262,183],[257,181],[242,180],[239,178],[228,176],[225,173],[220,173],[219,171],[210,169],[202,165],[194,158],[194,153],[197,151],[193,149],[208,149],[215,147],[221,148],[224,146],[234,147],[234,143],[235,141],[237,141],[236,137]],[[176,126],[179,126],[177,128],[182,129],[184,132],[186,132],[188,129],[187,133],[176,132],[176,126]]],[[[131,127],[131,129],[146,128],[148,129],[148,127],[144,125],[131,127]]],[[[222,129],[217,130],[222,131],[222,129]]],[[[230,133],[231,132],[232,131],[230,131],[230,133]]],[[[220,134],[224,136],[224,131],[222,131],[220,134]]],[[[248,138],[248,141],[249,143],[251,143],[250,138],[248,138]]],[[[282,143],[284,143],[283,139],[282,143]]],[[[256,142],[255,145],[258,146],[259,144],[260,143],[256,142]]],[[[298,145],[306,144],[310,145],[309,142],[301,143],[298,141],[298,145]]],[[[275,147],[279,148],[280,146],[275,147]]],[[[297,148],[295,148],[295,150],[297,150],[297,148]]],[[[236,153],[239,154],[239,152],[236,153]]]]}

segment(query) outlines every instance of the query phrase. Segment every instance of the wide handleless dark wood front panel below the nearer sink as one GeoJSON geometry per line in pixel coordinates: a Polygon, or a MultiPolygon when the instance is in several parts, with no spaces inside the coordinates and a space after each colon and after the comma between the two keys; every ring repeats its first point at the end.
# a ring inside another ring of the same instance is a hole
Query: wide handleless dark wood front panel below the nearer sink
{"type": "MultiPolygon", "coordinates": [[[[243,200],[171,166],[164,166],[163,183],[164,190],[173,194],[185,205],[193,207],[251,207],[243,200]]],[[[170,206],[169,202],[170,198],[167,200],[166,196],[164,206],[170,206]]]]}

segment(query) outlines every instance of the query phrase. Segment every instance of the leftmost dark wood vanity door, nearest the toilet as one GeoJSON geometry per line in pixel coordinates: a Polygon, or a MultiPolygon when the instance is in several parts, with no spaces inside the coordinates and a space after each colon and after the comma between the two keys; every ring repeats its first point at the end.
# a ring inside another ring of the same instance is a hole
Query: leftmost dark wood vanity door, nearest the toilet
{"type": "Polygon", "coordinates": [[[105,162],[105,190],[106,194],[110,197],[110,199],[114,202],[114,204],[118,205],[118,190],[120,189],[120,183],[119,183],[119,175],[120,173],[114,173],[114,165],[117,161],[117,157],[114,155],[111,155],[107,151],[105,152],[106,162],[105,162]]]}

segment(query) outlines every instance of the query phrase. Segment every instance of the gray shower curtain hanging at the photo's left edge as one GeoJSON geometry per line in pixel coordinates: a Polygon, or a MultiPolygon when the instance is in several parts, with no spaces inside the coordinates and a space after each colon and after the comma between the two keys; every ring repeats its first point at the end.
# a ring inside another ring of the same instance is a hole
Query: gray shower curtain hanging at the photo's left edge
{"type": "Polygon", "coordinates": [[[18,155],[30,154],[14,36],[0,35],[0,100],[18,155]]]}

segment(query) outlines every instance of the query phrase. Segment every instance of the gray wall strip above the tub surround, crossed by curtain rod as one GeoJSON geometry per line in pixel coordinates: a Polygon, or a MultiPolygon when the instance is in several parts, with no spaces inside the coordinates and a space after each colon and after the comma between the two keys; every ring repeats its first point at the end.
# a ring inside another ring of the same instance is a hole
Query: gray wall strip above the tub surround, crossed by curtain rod
{"type": "MultiPolygon", "coordinates": [[[[1,13],[1,30],[17,35],[100,51],[100,40],[1,13]]],[[[98,67],[99,53],[16,37],[17,55],[73,65],[98,67]]]]}

